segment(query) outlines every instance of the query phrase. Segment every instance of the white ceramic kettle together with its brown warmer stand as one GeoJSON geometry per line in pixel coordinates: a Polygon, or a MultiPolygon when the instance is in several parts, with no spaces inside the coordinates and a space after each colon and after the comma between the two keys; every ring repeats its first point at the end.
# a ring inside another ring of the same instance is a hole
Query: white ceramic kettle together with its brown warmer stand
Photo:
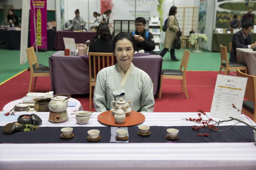
{"type": "Polygon", "coordinates": [[[52,100],[49,102],[49,109],[51,111],[48,120],[50,122],[63,122],[69,119],[67,109],[70,97],[69,94],[56,94],[52,96],[52,100]],[[67,98],[58,96],[67,96],[67,98]]]}

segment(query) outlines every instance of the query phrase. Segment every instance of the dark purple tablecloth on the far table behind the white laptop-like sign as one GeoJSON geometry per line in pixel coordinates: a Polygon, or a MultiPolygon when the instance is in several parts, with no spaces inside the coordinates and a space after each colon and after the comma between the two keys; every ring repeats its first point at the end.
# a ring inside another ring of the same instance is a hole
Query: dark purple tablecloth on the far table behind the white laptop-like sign
{"type": "Polygon", "coordinates": [[[55,50],[64,50],[65,44],[63,37],[74,38],[76,44],[84,44],[87,40],[92,41],[92,37],[95,34],[95,32],[57,31],[53,47],[55,50]]]}

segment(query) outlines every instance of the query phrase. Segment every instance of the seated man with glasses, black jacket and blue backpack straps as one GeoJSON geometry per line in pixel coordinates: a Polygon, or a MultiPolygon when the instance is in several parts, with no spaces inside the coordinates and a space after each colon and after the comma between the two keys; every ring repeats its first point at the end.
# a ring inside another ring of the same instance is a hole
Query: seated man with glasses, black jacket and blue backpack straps
{"type": "Polygon", "coordinates": [[[133,33],[130,33],[136,40],[136,51],[153,51],[155,49],[155,42],[153,35],[146,31],[146,20],[143,17],[135,19],[135,29],[133,33]]]}

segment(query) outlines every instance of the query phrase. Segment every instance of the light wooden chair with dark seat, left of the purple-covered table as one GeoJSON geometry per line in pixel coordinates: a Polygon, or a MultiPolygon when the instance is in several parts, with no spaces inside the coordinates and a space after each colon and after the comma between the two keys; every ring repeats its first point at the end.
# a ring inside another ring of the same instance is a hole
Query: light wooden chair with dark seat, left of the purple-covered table
{"type": "Polygon", "coordinates": [[[44,68],[38,67],[34,47],[30,47],[26,49],[26,53],[28,56],[29,67],[30,67],[30,82],[29,82],[29,93],[30,93],[33,77],[35,77],[34,88],[33,88],[33,90],[35,90],[37,77],[50,76],[50,71],[49,71],[49,67],[44,67],[44,68]],[[36,64],[35,69],[33,69],[33,64],[36,64]]]}

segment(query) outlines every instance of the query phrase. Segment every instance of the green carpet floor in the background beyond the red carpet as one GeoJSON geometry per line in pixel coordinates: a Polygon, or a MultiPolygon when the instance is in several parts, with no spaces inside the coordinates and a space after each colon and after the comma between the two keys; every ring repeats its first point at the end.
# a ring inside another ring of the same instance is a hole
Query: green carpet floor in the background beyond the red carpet
{"type": "MultiPolygon", "coordinates": [[[[163,46],[160,47],[163,49],[163,46]]],[[[187,49],[190,52],[195,49],[187,49]]],[[[220,53],[207,52],[202,50],[202,53],[190,53],[187,70],[193,71],[218,71],[220,69],[220,53]]],[[[38,52],[39,64],[49,67],[49,57],[56,51],[38,52]]],[[[170,52],[167,52],[163,57],[162,69],[179,69],[184,49],[176,50],[175,55],[180,61],[171,61],[170,52]]],[[[229,54],[228,54],[229,56],[229,54]]],[[[20,65],[19,50],[0,50],[0,83],[11,78],[17,73],[27,69],[29,62],[20,65]]]]}

